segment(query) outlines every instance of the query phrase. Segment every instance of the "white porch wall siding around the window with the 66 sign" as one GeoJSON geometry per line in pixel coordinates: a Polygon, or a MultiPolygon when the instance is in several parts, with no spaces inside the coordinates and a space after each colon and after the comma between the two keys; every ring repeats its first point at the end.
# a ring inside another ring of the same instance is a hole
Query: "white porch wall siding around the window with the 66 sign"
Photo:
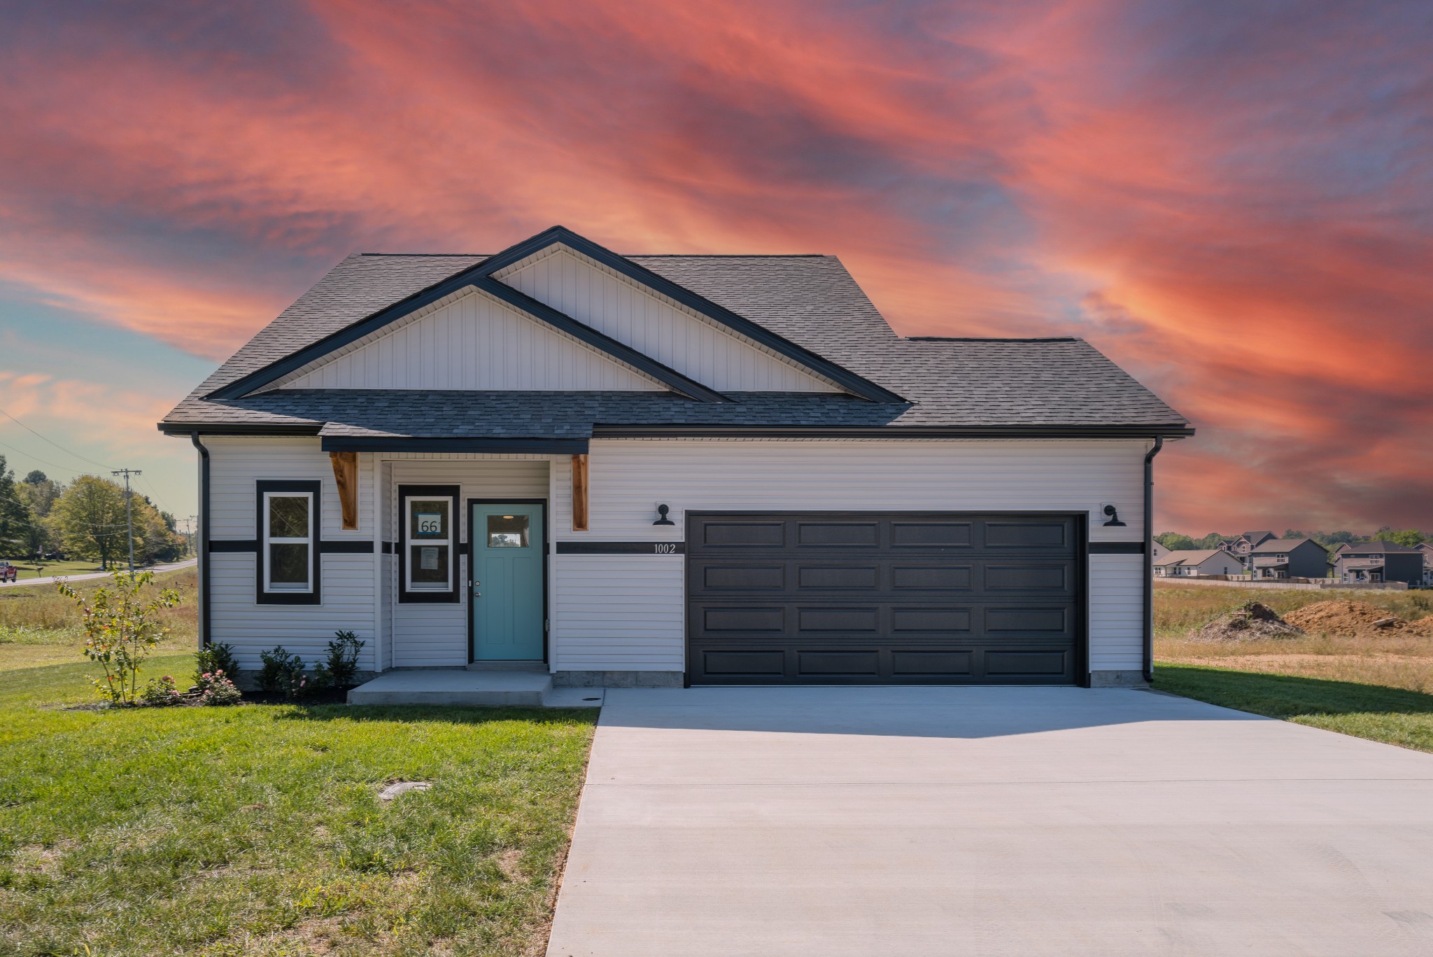
{"type": "MultiPolygon", "coordinates": [[[[469,539],[467,499],[470,498],[547,498],[547,458],[542,455],[467,455],[443,456],[404,453],[394,456],[390,496],[388,541],[401,548],[401,519],[397,491],[403,485],[457,485],[459,537],[469,539]]],[[[549,521],[549,525],[552,522],[549,521]]],[[[549,532],[550,534],[550,532],[549,532]]],[[[459,601],[393,604],[393,667],[451,667],[469,663],[467,647],[467,558],[459,557],[459,601]]],[[[397,588],[398,562],[391,562],[391,581],[397,588]]]]}

